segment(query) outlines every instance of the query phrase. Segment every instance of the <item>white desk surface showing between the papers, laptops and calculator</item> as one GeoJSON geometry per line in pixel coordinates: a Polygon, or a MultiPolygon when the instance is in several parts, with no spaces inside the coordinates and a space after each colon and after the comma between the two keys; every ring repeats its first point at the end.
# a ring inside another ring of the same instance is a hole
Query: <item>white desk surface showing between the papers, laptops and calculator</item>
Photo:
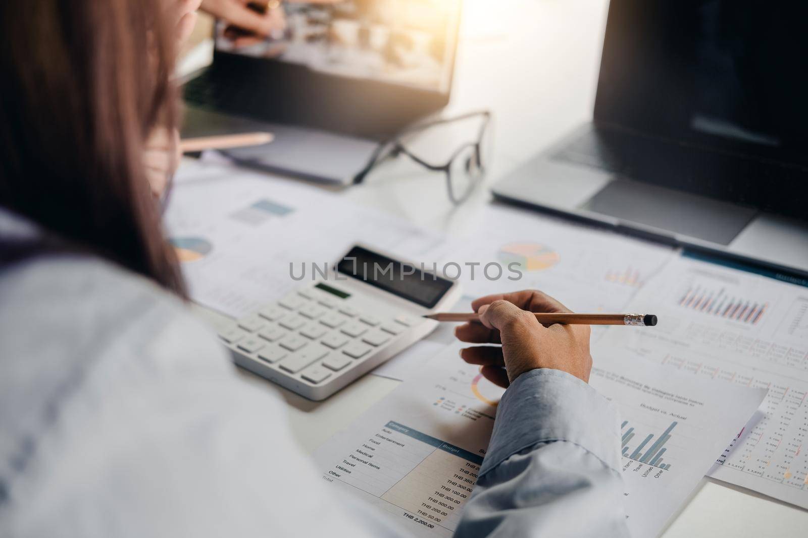
{"type": "MultiPolygon", "coordinates": [[[[488,184],[591,118],[606,0],[467,0],[456,84],[447,115],[488,108],[495,116],[488,184]]],[[[490,202],[486,187],[454,208],[440,174],[395,163],[348,194],[415,223],[452,231],[490,202]]],[[[200,309],[214,323],[221,316],[200,309]]],[[[596,360],[596,357],[595,357],[596,360]]],[[[277,387],[244,374],[249,382],[277,387]]],[[[292,430],[306,451],[347,427],[398,382],[368,375],[325,402],[281,390],[292,430]]],[[[705,478],[665,538],[808,536],[808,511],[705,478]]]]}

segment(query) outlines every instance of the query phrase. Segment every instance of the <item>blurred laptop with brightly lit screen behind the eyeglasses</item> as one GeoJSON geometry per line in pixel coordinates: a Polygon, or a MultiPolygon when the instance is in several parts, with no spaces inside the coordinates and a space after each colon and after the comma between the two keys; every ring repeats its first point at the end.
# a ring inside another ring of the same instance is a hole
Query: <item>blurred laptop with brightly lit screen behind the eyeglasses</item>
{"type": "Polygon", "coordinates": [[[234,160],[348,184],[381,140],[440,111],[452,90],[461,0],[284,3],[281,35],[235,48],[184,85],[183,136],[271,131],[234,160]]]}

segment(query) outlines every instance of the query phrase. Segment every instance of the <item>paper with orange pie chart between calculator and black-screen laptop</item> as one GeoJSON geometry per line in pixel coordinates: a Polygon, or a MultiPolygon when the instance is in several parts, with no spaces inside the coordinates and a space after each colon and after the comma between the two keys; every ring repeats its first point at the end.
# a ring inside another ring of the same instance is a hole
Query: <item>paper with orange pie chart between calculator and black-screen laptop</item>
{"type": "MultiPolygon", "coordinates": [[[[481,208],[464,234],[423,252],[450,275],[457,269],[447,264],[461,265],[470,296],[542,290],[577,312],[621,312],[674,256],[670,247],[502,206],[481,208]]],[[[596,340],[604,328],[593,328],[596,340]]]]}

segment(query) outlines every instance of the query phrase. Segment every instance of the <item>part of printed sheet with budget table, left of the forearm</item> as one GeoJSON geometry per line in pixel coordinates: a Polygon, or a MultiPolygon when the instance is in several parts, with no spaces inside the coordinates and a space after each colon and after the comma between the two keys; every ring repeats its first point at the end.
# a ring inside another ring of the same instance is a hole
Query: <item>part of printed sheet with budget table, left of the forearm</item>
{"type": "Polygon", "coordinates": [[[502,393],[448,348],[314,453],[322,478],[416,536],[452,536],[502,393]]]}

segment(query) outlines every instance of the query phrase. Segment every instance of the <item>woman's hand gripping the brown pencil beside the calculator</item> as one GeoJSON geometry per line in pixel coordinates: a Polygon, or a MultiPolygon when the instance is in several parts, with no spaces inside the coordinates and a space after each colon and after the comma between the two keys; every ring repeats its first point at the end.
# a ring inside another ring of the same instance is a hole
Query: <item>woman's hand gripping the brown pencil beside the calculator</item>
{"type": "Polygon", "coordinates": [[[544,327],[532,312],[569,312],[562,303],[541,291],[488,295],[472,302],[482,323],[464,323],[455,329],[458,339],[475,346],[461,357],[490,382],[507,387],[522,373],[537,368],[558,369],[589,381],[592,357],[588,325],[544,327]],[[504,369],[503,369],[504,367],[504,369]]]}

